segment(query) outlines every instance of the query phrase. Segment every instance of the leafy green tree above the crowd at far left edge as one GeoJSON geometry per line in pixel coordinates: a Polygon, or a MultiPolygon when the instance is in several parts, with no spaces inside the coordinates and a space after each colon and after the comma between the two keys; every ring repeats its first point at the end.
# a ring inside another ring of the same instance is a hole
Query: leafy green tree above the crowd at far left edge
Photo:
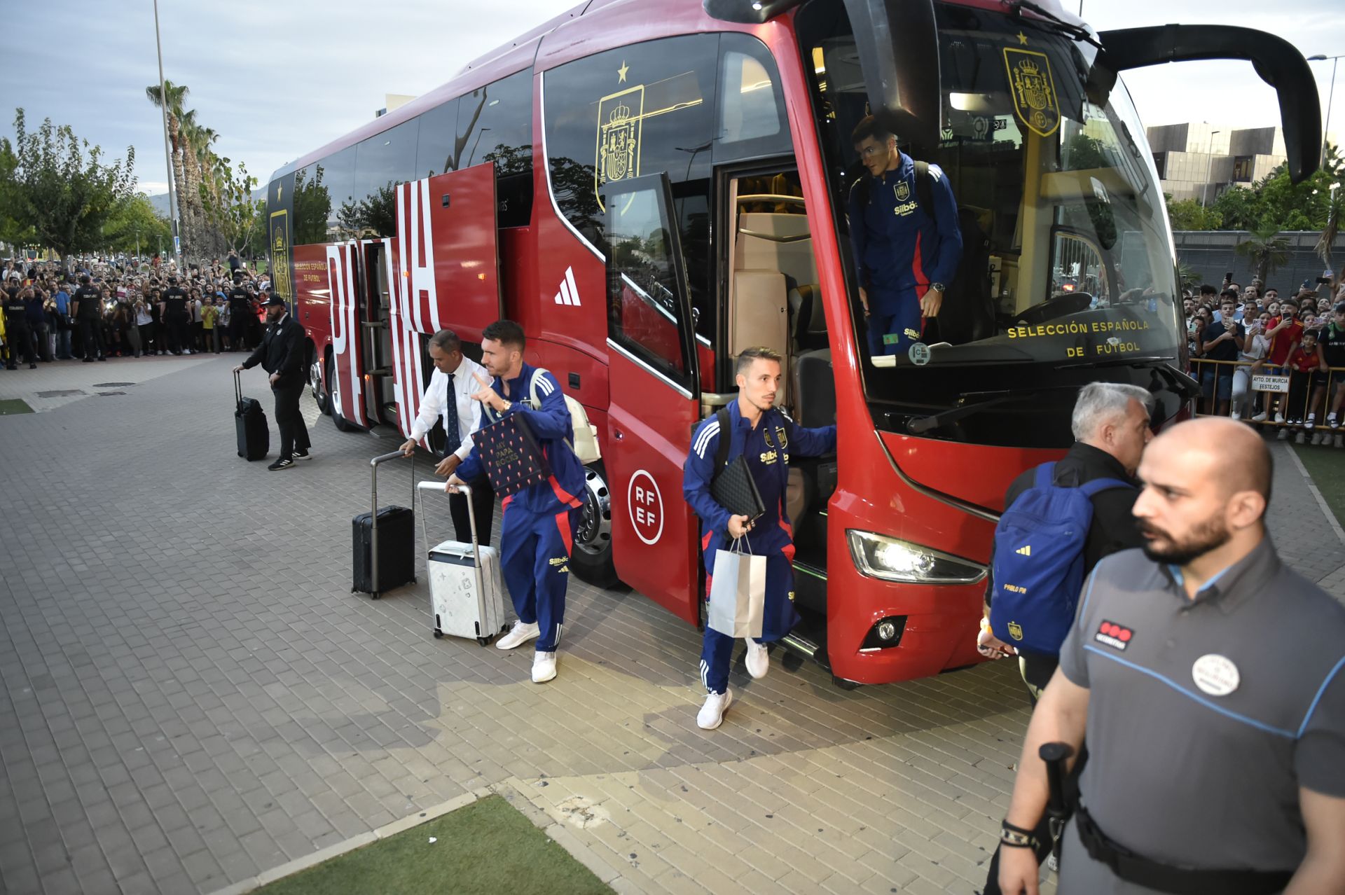
{"type": "Polygon", "coordinates": [[[0,155],[16,160],[7,188],[13,199],[9,214],[62,258],[98,249],[104,224],[132,195],[134,148],[126,148],[125,160],[106,165],[102,146],[75,137],[70,125],[55,126],[46,118],[30,133],[23,109],[16,109],[13,129],[12,145],[0,140],[0,155]]]}

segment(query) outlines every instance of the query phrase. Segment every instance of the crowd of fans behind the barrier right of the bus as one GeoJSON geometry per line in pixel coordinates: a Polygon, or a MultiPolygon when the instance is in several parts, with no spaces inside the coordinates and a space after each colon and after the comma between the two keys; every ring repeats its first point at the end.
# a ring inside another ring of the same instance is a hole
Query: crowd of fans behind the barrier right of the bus
{"type": "Polygon", "coordinates": [[[1188,290],[1182,306],[1200,413],[1279,426],[1282,441],[1345,446],[1345,282],[1322,277],[1280,297],[1256,280],[1225,280],[1188,290]],[[1286,379],[1287,392],[1255,387],[1286,379]]]}

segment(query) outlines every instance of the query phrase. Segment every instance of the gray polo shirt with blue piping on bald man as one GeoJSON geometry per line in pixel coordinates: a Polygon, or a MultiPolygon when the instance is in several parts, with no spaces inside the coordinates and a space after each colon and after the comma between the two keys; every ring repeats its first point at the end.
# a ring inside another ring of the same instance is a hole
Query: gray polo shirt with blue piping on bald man
{"type": "Polygon", "coordinates": [[[1060,650],[1091,691],[1083,802],[1155,861],[1294,869],[1298,787],[1345,797],[1345,606],[1270,539],[1194,601],[1178,577],[1127,550],[1084,586],[1060,650]]]}

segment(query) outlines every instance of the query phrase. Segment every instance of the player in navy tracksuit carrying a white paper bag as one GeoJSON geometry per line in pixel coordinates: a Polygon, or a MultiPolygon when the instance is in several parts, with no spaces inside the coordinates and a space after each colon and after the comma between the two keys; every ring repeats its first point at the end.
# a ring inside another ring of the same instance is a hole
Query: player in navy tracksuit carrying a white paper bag
{"type": "MultiPolygon", "coordinates": [[[[714,555],[729,539],[748,534],[746,547],[765,555],[765,611],[760,641],[746,640],[748,672],[764,677],[769,668],[765,644],[780,640],[799,621],[794,610],[794,528],[784,509],[784,489],[790,477],[790,454],[816,457],[837,448],[837,427],[795,426],[784,411],[775,409],[780,387],[780,355],[769,348],[748,348],[737,360],[738,399],[728,406],[729,433],[720,431],[718,417],[701,422],[691,435],[691,452],[682,472],[682,495],[701,517],[701,548],[705,551],[706,593],[714,575],[714,555]],[[710,495],[720,439],[728,435],[732,464],[746,457],[748,470],[761,492],[765,513],[756,521],[734,516],[710,495]]],[[[729,658],[733,638],[705,628],[701,648],[701,683],[706,700],[695,723],[713,730],[724,720],[729,692],[729,658]]]]}

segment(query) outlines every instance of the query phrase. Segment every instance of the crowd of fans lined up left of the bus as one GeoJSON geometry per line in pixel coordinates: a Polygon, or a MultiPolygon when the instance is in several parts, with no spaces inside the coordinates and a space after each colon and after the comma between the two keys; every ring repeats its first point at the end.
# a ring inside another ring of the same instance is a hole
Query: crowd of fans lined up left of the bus
{"type": "Polygon", "coordinates": [[[8,370],[54,360],[250,351],[261,341],[265,273],[230,253],[188,265],[152,258],[5,261],[0,353],[8,370]],[[22,320],[17,302],[23,302],[22,320]]]}

